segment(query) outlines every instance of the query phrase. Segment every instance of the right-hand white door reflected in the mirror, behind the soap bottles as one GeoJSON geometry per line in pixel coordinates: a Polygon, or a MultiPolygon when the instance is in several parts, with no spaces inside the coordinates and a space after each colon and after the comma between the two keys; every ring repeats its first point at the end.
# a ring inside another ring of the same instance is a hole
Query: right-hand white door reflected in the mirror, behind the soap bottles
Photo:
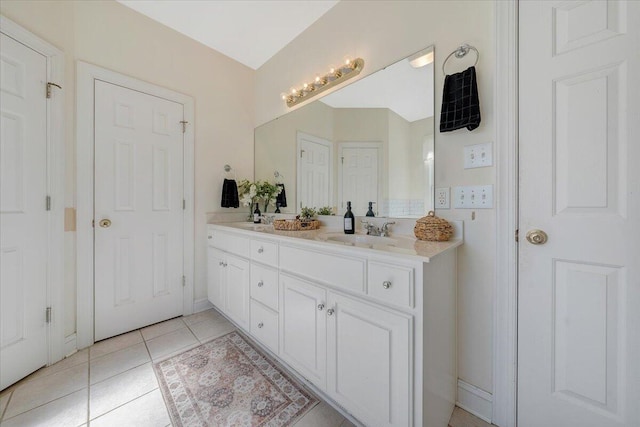
{"type": "Polygon", "coordinates": [[[341,194],[340,208],[347,208],[351,202],[355,215],[364,216],[369,202],[373,211],[378,211],[378,148],[342,146],[340,155],[341,194]]]}

